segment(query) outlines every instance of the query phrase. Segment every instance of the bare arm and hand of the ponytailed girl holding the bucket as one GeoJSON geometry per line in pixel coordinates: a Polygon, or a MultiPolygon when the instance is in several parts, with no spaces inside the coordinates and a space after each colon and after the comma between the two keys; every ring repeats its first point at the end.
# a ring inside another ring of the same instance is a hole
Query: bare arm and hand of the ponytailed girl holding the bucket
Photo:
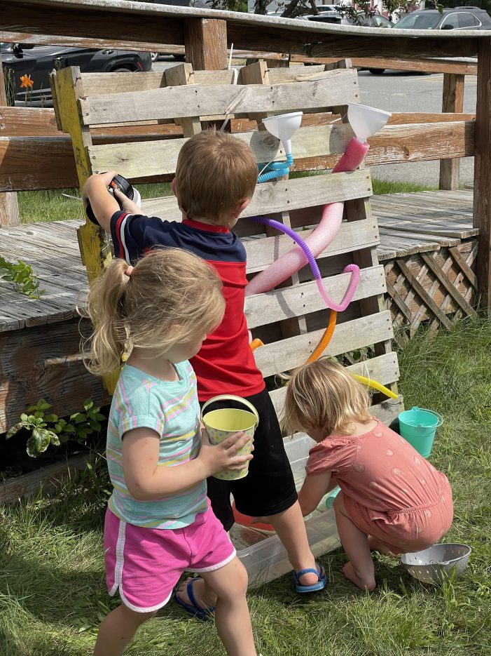
{"type": "Polygon", "coordinates": [[[242,469],[251,455],[237,455],[249,441],[235,433],[218,446],[204,439],[200,455],[175,467],[158,465],[159,436],[149,428],[127,431],[123,438],[123,471],[127,488],[135,499],[149,501],[186,490],[223,469],[242,469]]]}

